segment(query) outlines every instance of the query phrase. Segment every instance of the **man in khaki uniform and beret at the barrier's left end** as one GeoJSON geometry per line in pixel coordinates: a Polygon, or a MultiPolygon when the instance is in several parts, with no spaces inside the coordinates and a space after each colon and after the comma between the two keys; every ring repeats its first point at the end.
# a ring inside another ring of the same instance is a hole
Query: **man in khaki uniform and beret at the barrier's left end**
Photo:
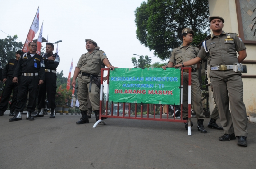
{"type": "Polygon", "coordinates": [[[77,99],[79,101],[79,110],[82,117],[76,124],[89,123],[87,116],[87,99],[88,93],[91,101],[92,110],[95,113],[96,120],[99,120],[100,110],[100,90],[94,83],[93,77],[98,77],[101,70],[102,62],[107,65],[108,68],[114,69],[102,50],[95,50],[97,43],[91,39],[86,39],[87,53],[82,54],[77,66],[75,68],[72,85],[75,86],[75,80],[78,77],[78,92],[77,99]],[[90,91],[91,90],[91,91],[90,91]]]}

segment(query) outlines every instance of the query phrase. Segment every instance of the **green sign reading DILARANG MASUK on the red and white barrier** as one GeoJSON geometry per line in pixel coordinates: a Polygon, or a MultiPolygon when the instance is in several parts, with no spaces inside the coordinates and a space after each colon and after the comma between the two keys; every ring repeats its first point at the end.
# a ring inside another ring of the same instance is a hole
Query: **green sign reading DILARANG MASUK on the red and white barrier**
{"type": "Polygon", "coordinates": [[[116,68],[110,70],[109,101],[180,104],[179,68],[116,68]]]}

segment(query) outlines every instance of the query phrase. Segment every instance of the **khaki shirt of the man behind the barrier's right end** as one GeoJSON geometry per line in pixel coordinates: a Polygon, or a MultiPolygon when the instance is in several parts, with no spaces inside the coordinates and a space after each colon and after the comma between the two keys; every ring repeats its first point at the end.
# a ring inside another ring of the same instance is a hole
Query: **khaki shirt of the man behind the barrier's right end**
{"type": "MultiPolygon", "coordinates": [[[[197,57],[198,53],[199,49],[197,47],[189,45],[187,48],[185,48],[183,45],[181,45],[172,51],[168,63],[172,62],[174,64],[180,64],[194,59],[197,57]]],[[[196,64],[192,65],[191,68],[197,68],[196,64]]]]}

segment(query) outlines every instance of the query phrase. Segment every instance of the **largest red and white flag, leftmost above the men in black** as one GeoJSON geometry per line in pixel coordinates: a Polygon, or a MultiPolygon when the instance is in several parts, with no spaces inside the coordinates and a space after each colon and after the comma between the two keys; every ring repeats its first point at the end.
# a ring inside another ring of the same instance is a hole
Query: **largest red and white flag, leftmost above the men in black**
{"type": "Polygon", "coordinates": [[[33,41],[33,38],[35,37],[35,34],[37,34],[38,30],[39,30],[39,7],[37,9],[37,13],[34,17],[32,25],[30,26],[29,32],[27,34],[27,39],[24,43],[22,51],[24,51],[24,52],[29,51],[28,44],[33,41]]]}

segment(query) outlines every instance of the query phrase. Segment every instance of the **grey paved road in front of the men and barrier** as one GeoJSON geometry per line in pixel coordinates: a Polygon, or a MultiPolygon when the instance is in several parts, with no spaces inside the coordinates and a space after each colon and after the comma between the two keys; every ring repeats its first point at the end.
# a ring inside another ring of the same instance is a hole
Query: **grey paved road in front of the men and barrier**
{"type": "Polygon", "coordinates": [[[214,129],[194,126],[188,136],[183,123],[108,118],[92,128],[95,118],[76,125],[79,115],[9,118],[0,117],[0,169],[256,168],[256,124],[248,124],[249,146],[239,147],[214,129]]]}

